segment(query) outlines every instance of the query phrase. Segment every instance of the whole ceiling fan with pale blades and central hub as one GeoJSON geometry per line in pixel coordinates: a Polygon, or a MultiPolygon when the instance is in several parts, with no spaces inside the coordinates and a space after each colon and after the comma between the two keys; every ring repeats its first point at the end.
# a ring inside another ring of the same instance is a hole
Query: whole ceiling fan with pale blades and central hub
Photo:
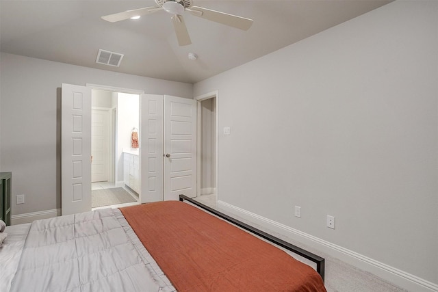
{"type": "Polygon", "coordinates": [[[223,25],[229,25],[245,31],[253,24],[253,20],[249,18],[192,6],[192,0],[155,0],[155,3],[157,3],[158,7],[153,6],[127,10],[125,12],[102,16],[102,19],[115,23],[135,16],[143,16],[159,10],[164,10],[169,14],[172,14],[172,23],[180,46],[186,46],[192,43],[187,27],[185,26],[183,18],[184,11],[190,12],[190,14],[193,14],[194,16],[205,18],[209,21],[215,21],[216,23],[222,23],[223,25]]]}

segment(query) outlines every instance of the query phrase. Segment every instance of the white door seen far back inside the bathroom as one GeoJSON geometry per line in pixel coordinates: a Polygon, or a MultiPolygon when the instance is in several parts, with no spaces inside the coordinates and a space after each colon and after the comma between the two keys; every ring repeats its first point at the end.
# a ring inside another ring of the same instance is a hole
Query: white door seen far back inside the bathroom
{"type": "Polygon", "coordinates": [[[107,109],[91,110],[91,181],[108,181],[110,164],[110,114],[107,109]]]}

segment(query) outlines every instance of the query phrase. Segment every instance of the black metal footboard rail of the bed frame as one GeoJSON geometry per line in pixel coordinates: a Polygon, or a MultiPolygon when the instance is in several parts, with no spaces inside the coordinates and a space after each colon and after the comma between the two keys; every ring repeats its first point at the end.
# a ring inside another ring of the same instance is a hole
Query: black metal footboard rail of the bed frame
{"type": "Polygon", "coordinates": [[[271,241],[272,243],[275,243],[276,245],[281,246],[282,248],[285,248],[286,250],[290,250],[291,252],[294,252],[295,254],[298,254],[302,256],[303,258],[307,258],[309,261],[312,261],[313,263],[316,263],[316,271],[318,271],[318,274],[320,274],[322,280],[324,281],[324,263],[325,260],[321,256],[317,256],[316,254],[312,254],[311,252],[308,252],[307,250],[303,250],[302,248],[298,248],[298,246],[293,245],[291,243],[288,243],[287,241],[284,241],[282,239],[279,239],[277,237],[274,237],[268,233],[265,233],[257,228],[254,228],[253,226],[249,226],[248,224],[245,224],[244,222],[241,222],[239,220],[234,219],[233,217],[230,217],[229,215],[225,215],[224,213],[221,213],[215,209],[212,209],[205,204],[201,204],[200,202],[197,202],[196,200],[193,200],[185,195],[179,195],[179,200],[183,202],[184,200],[191,202],[192,204],[205,209],[206,211],[209,211],[210,213],[213,213],[214,215],[221,217],[224,220],[227,220],[236,226],[239,226],[241,228],[244,228],[245,230],[248,230],[250,233],[253,233],[255,235],[258,235],[259,237],[262,237],[263,239],[266,239],[268,241],[271,241]]]}

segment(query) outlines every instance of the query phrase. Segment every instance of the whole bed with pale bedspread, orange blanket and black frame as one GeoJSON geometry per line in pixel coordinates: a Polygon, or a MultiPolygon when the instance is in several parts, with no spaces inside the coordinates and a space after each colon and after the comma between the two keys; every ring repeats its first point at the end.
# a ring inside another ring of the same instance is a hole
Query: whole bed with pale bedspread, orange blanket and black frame
{"type": "Polygon", "coordinates": [[[324,258],[180,200],[8,226],[0,291],[326,291],[324,258]]]}

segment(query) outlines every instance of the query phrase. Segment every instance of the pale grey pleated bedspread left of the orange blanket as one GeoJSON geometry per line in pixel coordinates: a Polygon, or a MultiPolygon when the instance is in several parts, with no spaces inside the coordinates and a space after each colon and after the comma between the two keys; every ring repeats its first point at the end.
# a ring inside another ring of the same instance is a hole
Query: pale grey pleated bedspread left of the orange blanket
{"type": "Polygon", "coordinates": [[[27,227],[24,241],[22,236],[2,247],[2,255],[10,254],[3,248],[18,250],[12,260],[15,276],[5,278],[1,290],[175,291],[118,209],[38,220],[27,227]]]}

